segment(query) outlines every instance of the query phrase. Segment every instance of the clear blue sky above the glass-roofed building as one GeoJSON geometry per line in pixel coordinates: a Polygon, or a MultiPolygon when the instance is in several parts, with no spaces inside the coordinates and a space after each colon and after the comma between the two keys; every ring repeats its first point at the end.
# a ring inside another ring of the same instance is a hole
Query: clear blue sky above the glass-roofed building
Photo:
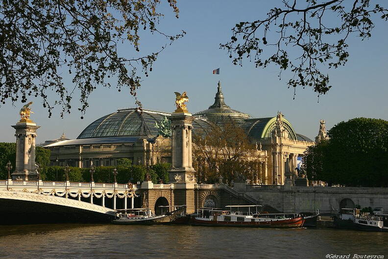
{"type": "MultiPolygon", "coordinates": [[[[304,3],[305,1],[300,1],[304,3]]],[[[384,0],[371,0],[372,4],[387,5],[384,0]]],[[[349,61],[346,67],[328,70],[333,88],[327,95],[317,95],[311,89],[298,89],[295,100],[293,90],[287,89],[287,78],[279,80],[275,68],[256,69],[252,63],[234,66],[227,52],[219,50],[219,43],[231,37],[231,28],[241,21],[252,21],[266,16],[274,6],[282,6],[280,0],[178,0],[180,18],[174,18],[170,8],[163,7],[166,17],[161,20],[162,30],[167,33],[187,35],[162,52],[153,71],[145,78],[138,97],[144,108],[162,111],[174,110],[174,91],[187,91],[190,97],[189,111],[194,113],[213,104],[218,79],[222,83],[225,102],[234,109],[252,117],[275,115],[278,110],[286,116],[294,129],[314,138],[319,129],[319,119],[326,120],[330,129],[340,121],[355,117],[371,117],[388,120],[388,35],[386,22],[376,20],[372,38],[349,40],[349,61]],[[220,68],[220,75],[212,70],[220,68]]],[[[161,42],[145,37],[141,42],[144,51],[156,51],[161,42]]],[[[123,51],[130,47],[122,48],[123,51]]],[[[71,86],[70,79],[66,82],[71,86]]],[[[37,143],[78,134],[97,118],[114,112],[118,107],[133,106],[134,100],[126,90],[97,89],[89,98],[90,107],[80,120],[76,96],[73,112],[59,117],[58,109],[48,118],[39,99],[33,101],[31,119],[39,126],[37,143]]],[[[14,142],[14,125],[19,120],[22,104],[6,104],[0,108],[0,141],[14,142]]]]}

